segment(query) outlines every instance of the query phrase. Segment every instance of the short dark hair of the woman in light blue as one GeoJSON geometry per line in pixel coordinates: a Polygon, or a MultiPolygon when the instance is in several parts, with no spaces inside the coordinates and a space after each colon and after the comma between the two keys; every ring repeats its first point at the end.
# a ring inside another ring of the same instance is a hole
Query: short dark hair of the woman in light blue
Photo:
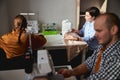
{"type": "Polygon", "coordinates": [[[97,7],[89,7],[85,12],[89,12],[92,17],[97,17],[100,14],[100,11],[97,7]]]}

